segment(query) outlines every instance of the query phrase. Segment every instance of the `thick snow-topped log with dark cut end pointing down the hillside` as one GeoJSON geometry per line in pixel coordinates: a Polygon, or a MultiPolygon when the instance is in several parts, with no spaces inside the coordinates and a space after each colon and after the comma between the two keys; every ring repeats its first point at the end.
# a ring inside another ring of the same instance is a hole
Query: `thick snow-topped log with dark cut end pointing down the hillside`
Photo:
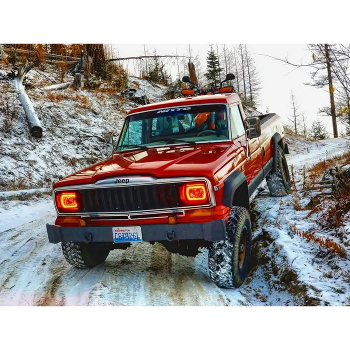
{"type": "Polygon", "coordinates": [[[12,83],[17,90],[18,98],[24,109],[25,118],[28,123],[30,134],[33,137],[40,138],[42,136],[41,123],[35,112],[33,104],[31,103],[23,86],[23,79],[30,69],[31,69],[31,66],[28,65],[28,60],[27,60],[22,67],[18,68],[17,76],[12,80],[12,83]]]}

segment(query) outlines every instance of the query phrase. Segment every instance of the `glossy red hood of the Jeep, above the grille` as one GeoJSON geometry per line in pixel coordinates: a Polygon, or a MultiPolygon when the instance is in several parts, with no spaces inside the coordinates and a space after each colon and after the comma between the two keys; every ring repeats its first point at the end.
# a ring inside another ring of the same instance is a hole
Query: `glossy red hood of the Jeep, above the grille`
{"type": "MultiPolygon", "coordinates": [[[[232,143],[204,143],[124,150],[56,182],[53,188],[95,181],[112,176],[150,175],[156,178],[203,176],[211,178],[239,152],[232,143]]],[[[220,171],[221,172],[221,171],[220,171]]]]}

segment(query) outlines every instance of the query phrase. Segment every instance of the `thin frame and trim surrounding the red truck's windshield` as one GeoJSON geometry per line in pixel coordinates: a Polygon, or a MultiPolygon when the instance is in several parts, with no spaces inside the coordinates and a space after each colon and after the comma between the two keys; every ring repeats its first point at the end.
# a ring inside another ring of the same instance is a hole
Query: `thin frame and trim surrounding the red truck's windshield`
{"type": "MultiPolygon", "coordinates": [[[[180,107],[192,107],[192,106],[197,106],[197,105],[206,105],[206,104],[222,104],[225,106],[226,108],[226,115],[227,115],[227,127],[228,127],[228,137],[226,140],[211,140],[211,141],[195,141],[196,144],[199,143],[217,143],[217,142],[232,142],[232,134],[231,134],[231,113],[230,113],[230,108],[227,102],[214,102],[214,103],[196,103],[196,104],[181,104],[180,107]]],[[[169,106],[170,107],[170,106],[169,106]]],[[[179,106],[177,106],[179,107],[179,106]]],[[[141,110],[139,112],[134,112],[134,113],[130,113],[127,114],[125,119],[124,119],[124,124],[121,128],[120,134],[119,134],[119,138],[118,138],[118,142],[116,144],[116,148],[121,145],[121,140],[124,137],[124,134],[126,132],[126,125],[128,125],[128,120],[130,119],[131,115],[134,114],[140,114],[140,113],[144,113],[144,112],[149,112],[149,111],[153,111],[153,110],[161,110],[164,109],[165,107],[160,107],[160,108],[154,108],[154,109],[147,109],[147,110],[141,110]]],[[[168,108],[168,107],[167,107],[168,108]]],[[[170,144],[155,144],[155,145],[147,145],[147,148],[154,148],[154,147],[171,147],[171,146],[178,146],[178,145],[190,145],[187,142],[178,142],[178,143],[170,143],[170,144]]],[[[122,149],[122,151],[129,151],[132,149],[138,149],[139,147],[133,147],[133,148],[124,148],[122,149]]],[[[119,151],[119,150],[118,150],[119,151]]]]}

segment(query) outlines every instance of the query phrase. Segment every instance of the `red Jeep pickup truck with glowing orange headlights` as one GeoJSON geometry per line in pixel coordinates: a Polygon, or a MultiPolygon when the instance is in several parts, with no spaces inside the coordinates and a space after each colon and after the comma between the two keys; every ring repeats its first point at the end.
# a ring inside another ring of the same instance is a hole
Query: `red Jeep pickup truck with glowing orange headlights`
{"type": "Polygon", "coordinates": [[[290,189],[280,117],[245,117],[236,93],[190,95],[131,109],[108,146],[108,159],[53,186],[57,219],[47,234],[66,260],[93,267],[141,241],[187,256],[206,247],[211,280],[240,286],[249,196],[264,178],[273,196],[290,189]]]}

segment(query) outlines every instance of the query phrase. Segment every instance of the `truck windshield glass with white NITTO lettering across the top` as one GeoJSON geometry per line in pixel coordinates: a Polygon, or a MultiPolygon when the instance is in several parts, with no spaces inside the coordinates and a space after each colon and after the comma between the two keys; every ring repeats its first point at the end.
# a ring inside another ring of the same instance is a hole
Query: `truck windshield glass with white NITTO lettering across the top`
{"type": "Polygon", "coordinates": [[[130,114],[118,147],[222,140],[229,140],[226,106],[207,104],[130,114]]]}

